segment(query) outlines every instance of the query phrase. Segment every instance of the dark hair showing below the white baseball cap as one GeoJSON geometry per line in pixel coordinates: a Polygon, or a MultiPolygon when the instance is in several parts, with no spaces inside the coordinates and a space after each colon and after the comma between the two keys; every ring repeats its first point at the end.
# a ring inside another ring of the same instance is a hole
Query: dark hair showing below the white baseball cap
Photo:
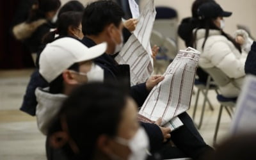
{"type": "MultiPolygon", "coordinates": [[[[74,63],[72,66],[68,68],[68,70],[75,70],[79,72],[79,63],[74,63]]],[[[51,70],[49,70],[49,72],[51,72],[51,70]]],[[[52,94],[63,93],[64,84],[63,84],[62,74],[56,77],[56,79],[54,79],[51,83],[49,83],[49,87],[50,87],[49,92],[52,94]]]]}

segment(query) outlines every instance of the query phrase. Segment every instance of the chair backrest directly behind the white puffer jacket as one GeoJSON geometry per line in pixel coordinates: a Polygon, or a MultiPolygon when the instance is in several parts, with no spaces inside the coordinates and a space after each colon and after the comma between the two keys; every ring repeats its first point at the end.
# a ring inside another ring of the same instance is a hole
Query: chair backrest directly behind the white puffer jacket
{"type": "Polygon", "coordinates": [[[216,68],[216,67],[204,68],[204,70],[212,77],[212,79],[214,80],[214,83],[216,83],[218,86],[225,86],[226,84],[233,81],[233,79],[228,77],[219,68],[216,68]]]}

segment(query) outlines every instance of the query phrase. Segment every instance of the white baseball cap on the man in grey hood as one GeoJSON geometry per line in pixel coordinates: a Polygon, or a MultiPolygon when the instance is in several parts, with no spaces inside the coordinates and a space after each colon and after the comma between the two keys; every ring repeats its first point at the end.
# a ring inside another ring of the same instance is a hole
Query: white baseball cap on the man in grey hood
{"type": "Polygon", "coordinates": [[[60,38],[47,44],[40,54],[39,72],[48,83],[51,83],[74,63],[97,58],[106,51],[106,48],[106,42],[88,48],[74,38],[60,38]]]}

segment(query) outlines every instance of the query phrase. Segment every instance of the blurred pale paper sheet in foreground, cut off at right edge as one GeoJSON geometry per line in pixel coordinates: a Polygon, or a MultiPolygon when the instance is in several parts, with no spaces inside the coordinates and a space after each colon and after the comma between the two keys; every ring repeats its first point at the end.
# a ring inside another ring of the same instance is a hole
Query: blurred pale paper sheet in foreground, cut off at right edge
{"type": "Polygon", "coordinates": [[[231,134],[256,132],[256,77],[246,76],[244,86],[236,104],[231,134]]]}

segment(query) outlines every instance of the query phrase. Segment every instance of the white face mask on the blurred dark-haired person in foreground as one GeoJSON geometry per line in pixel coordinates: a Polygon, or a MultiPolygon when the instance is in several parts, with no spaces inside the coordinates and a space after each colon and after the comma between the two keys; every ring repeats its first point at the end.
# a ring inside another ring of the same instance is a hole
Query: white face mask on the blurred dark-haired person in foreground
{"type": "Polygon", "coordinates": [[[125,140],[124,138],[117,137],[116,142],[130,148],[131,154],[129,155],[129,160],[144,160],[147,158],[149,142],[148,136],[142,127],[138,129],[131,140],[125,140]]]}

